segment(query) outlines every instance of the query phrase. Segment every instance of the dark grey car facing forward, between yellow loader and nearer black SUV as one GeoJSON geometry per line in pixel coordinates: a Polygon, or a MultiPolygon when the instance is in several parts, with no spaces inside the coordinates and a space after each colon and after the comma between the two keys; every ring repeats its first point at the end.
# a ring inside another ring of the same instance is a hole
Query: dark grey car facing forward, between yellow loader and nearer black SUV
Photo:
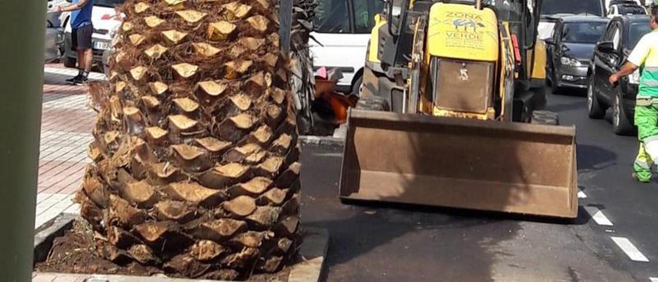
{"type": "Polygon", "coordinates": [[[587,68],[607,22],[599,16],[557,18],[553,36],[545,40],[546,76],[553,93],[561,88],[587,88],[587,68]]]}

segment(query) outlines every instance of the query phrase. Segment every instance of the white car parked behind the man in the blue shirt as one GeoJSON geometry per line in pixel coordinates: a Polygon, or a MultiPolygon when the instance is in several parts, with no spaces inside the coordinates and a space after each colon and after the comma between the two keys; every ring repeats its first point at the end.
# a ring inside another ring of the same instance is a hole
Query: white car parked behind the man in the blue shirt
{"type": "MultiPolygon", "coordinates": [[[[91,13],[91,44],[93,47],[93,63],[103,69],[103,53],[112,47],[112,38],[118,26],[120,18],[116,16],[114,7],[123,3],[123,0],[94,0],[91,13]]],[[[76,67],[78,54],[71,43],[70,15],[64,20],[64,55],[62,61],[65,67],[76,67]]]]}

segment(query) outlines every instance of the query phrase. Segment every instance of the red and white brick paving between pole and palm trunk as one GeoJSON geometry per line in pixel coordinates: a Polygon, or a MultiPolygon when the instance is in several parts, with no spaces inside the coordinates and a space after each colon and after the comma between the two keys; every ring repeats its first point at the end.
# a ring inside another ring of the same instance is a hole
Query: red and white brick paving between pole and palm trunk
{"type": "MultiPolygon", "coordinates": [[[[87,87],[70,86],[64,81],[77,70],[48,64],[43,74],[35,228],[63,211],[78,212],[72,198],[89,163],[87,148],[95,121],[95,112],[86,105],[87,87]]],[[[102,79],[103,75],[93,73],[90,78],[102,79]]]]}

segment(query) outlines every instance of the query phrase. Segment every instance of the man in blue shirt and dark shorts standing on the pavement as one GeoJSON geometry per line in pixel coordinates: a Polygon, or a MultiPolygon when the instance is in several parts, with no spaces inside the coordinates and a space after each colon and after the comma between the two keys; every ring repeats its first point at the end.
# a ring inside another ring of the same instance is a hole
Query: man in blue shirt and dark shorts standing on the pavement
{"type": "Polygon", "coordinates": [[[72,30],[71,42],[78,51],[78,75],[66,81],[76,85],[87,82],[93,60],[93,51],[91,50],[91,34],[93,34],[91,9],[93,9],[93,0],[72,0],[72,5],[57,7],[57,11],[72,11],[69,22],[72,30]]]}

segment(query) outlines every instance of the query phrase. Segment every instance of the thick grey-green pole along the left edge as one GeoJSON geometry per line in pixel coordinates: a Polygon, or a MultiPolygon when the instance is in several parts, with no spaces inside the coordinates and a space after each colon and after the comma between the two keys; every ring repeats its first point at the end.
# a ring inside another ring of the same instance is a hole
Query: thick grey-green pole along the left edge
{"type": "Polygon", "coordinates": [[[0,5],[0,281],[31,281],[46,0],[0,5]]]}

